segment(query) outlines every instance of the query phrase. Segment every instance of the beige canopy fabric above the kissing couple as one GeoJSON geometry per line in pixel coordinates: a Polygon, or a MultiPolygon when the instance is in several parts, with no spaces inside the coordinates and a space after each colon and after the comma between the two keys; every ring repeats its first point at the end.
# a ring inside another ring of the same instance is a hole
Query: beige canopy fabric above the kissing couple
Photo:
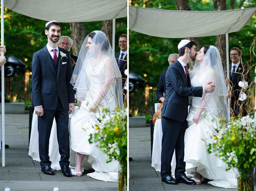
{"type": "Polygon", "coordinates": [[[226,11],[173,11],[129,6],[129,29],[155,37],[215,36],[240,31],[256,7],[226,11]]]}

